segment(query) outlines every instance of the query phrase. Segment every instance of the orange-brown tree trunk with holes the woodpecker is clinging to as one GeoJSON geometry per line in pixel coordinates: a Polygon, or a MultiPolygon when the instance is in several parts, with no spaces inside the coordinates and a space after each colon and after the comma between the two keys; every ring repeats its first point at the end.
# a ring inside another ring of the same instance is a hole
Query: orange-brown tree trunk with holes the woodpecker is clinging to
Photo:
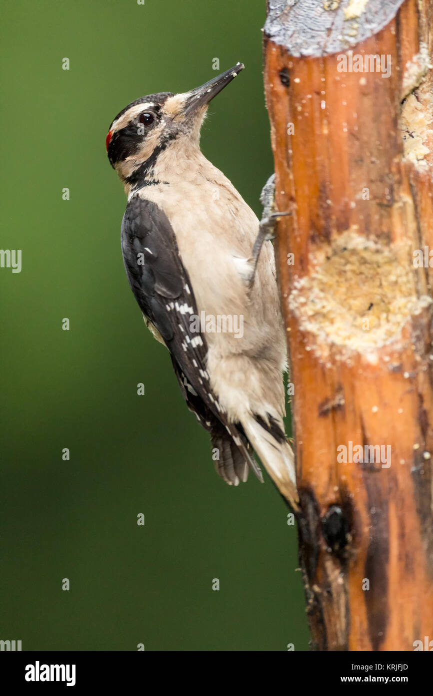
{"type": "Polygon", "coordinates": [[[433,641],[432,43],[433,0],[268,0],[314,649],[433,641]]]}

